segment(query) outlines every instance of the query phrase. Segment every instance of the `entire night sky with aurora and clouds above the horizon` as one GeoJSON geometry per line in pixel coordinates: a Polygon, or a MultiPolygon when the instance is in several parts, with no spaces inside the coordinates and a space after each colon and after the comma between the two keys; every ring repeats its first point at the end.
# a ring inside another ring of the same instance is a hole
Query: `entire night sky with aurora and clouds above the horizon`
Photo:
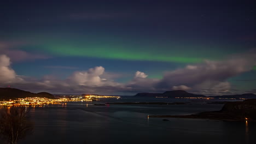
{"type": "Polygon", "coordinates": [[[3,1],[0,86],[256,93],[255,1],[3,1]]]}

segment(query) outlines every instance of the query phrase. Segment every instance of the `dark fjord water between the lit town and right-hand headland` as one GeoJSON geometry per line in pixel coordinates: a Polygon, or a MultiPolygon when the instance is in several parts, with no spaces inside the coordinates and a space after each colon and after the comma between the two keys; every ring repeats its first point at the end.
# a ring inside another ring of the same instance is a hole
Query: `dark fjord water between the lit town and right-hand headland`
{"type": "Polygon", "coordinates": [[[256,124],[207,119],[147,118],[220,110],[202,100],[122,97],[84,103],[32,107],[30,143],[254,143],[256,124]],[[106,102],[183,101],[186,105],[109,105],[106,102]],[[168,119],[169,121],[162,121],[168,119]]]}

